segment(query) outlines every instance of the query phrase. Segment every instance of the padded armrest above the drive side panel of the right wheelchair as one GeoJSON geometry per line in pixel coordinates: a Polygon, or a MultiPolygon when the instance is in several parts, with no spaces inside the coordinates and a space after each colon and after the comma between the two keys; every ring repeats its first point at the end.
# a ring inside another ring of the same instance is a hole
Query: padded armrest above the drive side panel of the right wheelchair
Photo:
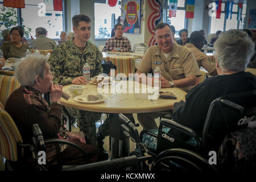
{"type": "Polygon", "coordinates": [[[171,119],[162,118],[160,122],[162,122],[164,125],[174,127],[176,130],[180,131],[185,135],[188,135],[191,138],[199,138],[199,135],[195,131],[189,129],[189,127],[180,125],[180,123],[172,121],[171,119]]]}

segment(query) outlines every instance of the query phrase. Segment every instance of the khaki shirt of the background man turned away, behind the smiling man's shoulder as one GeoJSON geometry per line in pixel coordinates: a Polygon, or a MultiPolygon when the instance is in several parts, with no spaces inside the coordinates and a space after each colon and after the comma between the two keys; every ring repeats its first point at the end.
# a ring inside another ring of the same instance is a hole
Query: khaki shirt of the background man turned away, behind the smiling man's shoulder
{"type": "Polygon", "coordinates": [[[214,63],[210,63],[210,58],[205,55],[204,52],[200,51],[198,48],[196,48],[195,45],[191,43],[185,44],[185,47],[188,47],[193,52],[193,55],[196,57],[197,64],[199,68],[203,67],[206,71],[209,73],[212,73],[216,67],[214,63]]]}

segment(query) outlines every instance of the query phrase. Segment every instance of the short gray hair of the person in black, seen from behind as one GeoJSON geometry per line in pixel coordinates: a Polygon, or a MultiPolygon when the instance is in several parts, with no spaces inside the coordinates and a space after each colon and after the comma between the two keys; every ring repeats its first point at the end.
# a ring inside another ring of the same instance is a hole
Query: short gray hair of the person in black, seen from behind
{"type": "Polygon", "coordinates": [[[254,43],[241,30],[221,32],[214,43],[217,61],[224,71],[245,71],[254,53],[254,43]]]}

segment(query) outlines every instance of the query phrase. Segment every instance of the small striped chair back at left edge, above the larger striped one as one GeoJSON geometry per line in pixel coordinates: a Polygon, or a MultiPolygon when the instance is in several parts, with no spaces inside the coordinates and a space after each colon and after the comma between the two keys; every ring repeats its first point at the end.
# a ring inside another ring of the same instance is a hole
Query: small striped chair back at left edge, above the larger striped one
{"type": "MultiPolygon", "coordinates": [[[[0,102],[2,106],[5,106],[7,98],[19,86],[20,84],[14,76],[0,75],[0,102]]],[[[1,104],[0,107],[2,107],[1,104]]]]}

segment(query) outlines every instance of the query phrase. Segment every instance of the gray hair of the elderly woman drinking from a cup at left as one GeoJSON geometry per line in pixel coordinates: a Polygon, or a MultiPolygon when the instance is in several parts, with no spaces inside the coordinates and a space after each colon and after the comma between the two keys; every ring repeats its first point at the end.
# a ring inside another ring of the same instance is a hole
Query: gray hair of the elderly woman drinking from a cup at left
{"type": "Polygon", "coordinates": [[[44,78],[47,58],[40,54],[31,54],[19,63],[15,68],[14,77],[22,86],[32,86],[35,84],[35,77],[39,75],[44,78]]]}

